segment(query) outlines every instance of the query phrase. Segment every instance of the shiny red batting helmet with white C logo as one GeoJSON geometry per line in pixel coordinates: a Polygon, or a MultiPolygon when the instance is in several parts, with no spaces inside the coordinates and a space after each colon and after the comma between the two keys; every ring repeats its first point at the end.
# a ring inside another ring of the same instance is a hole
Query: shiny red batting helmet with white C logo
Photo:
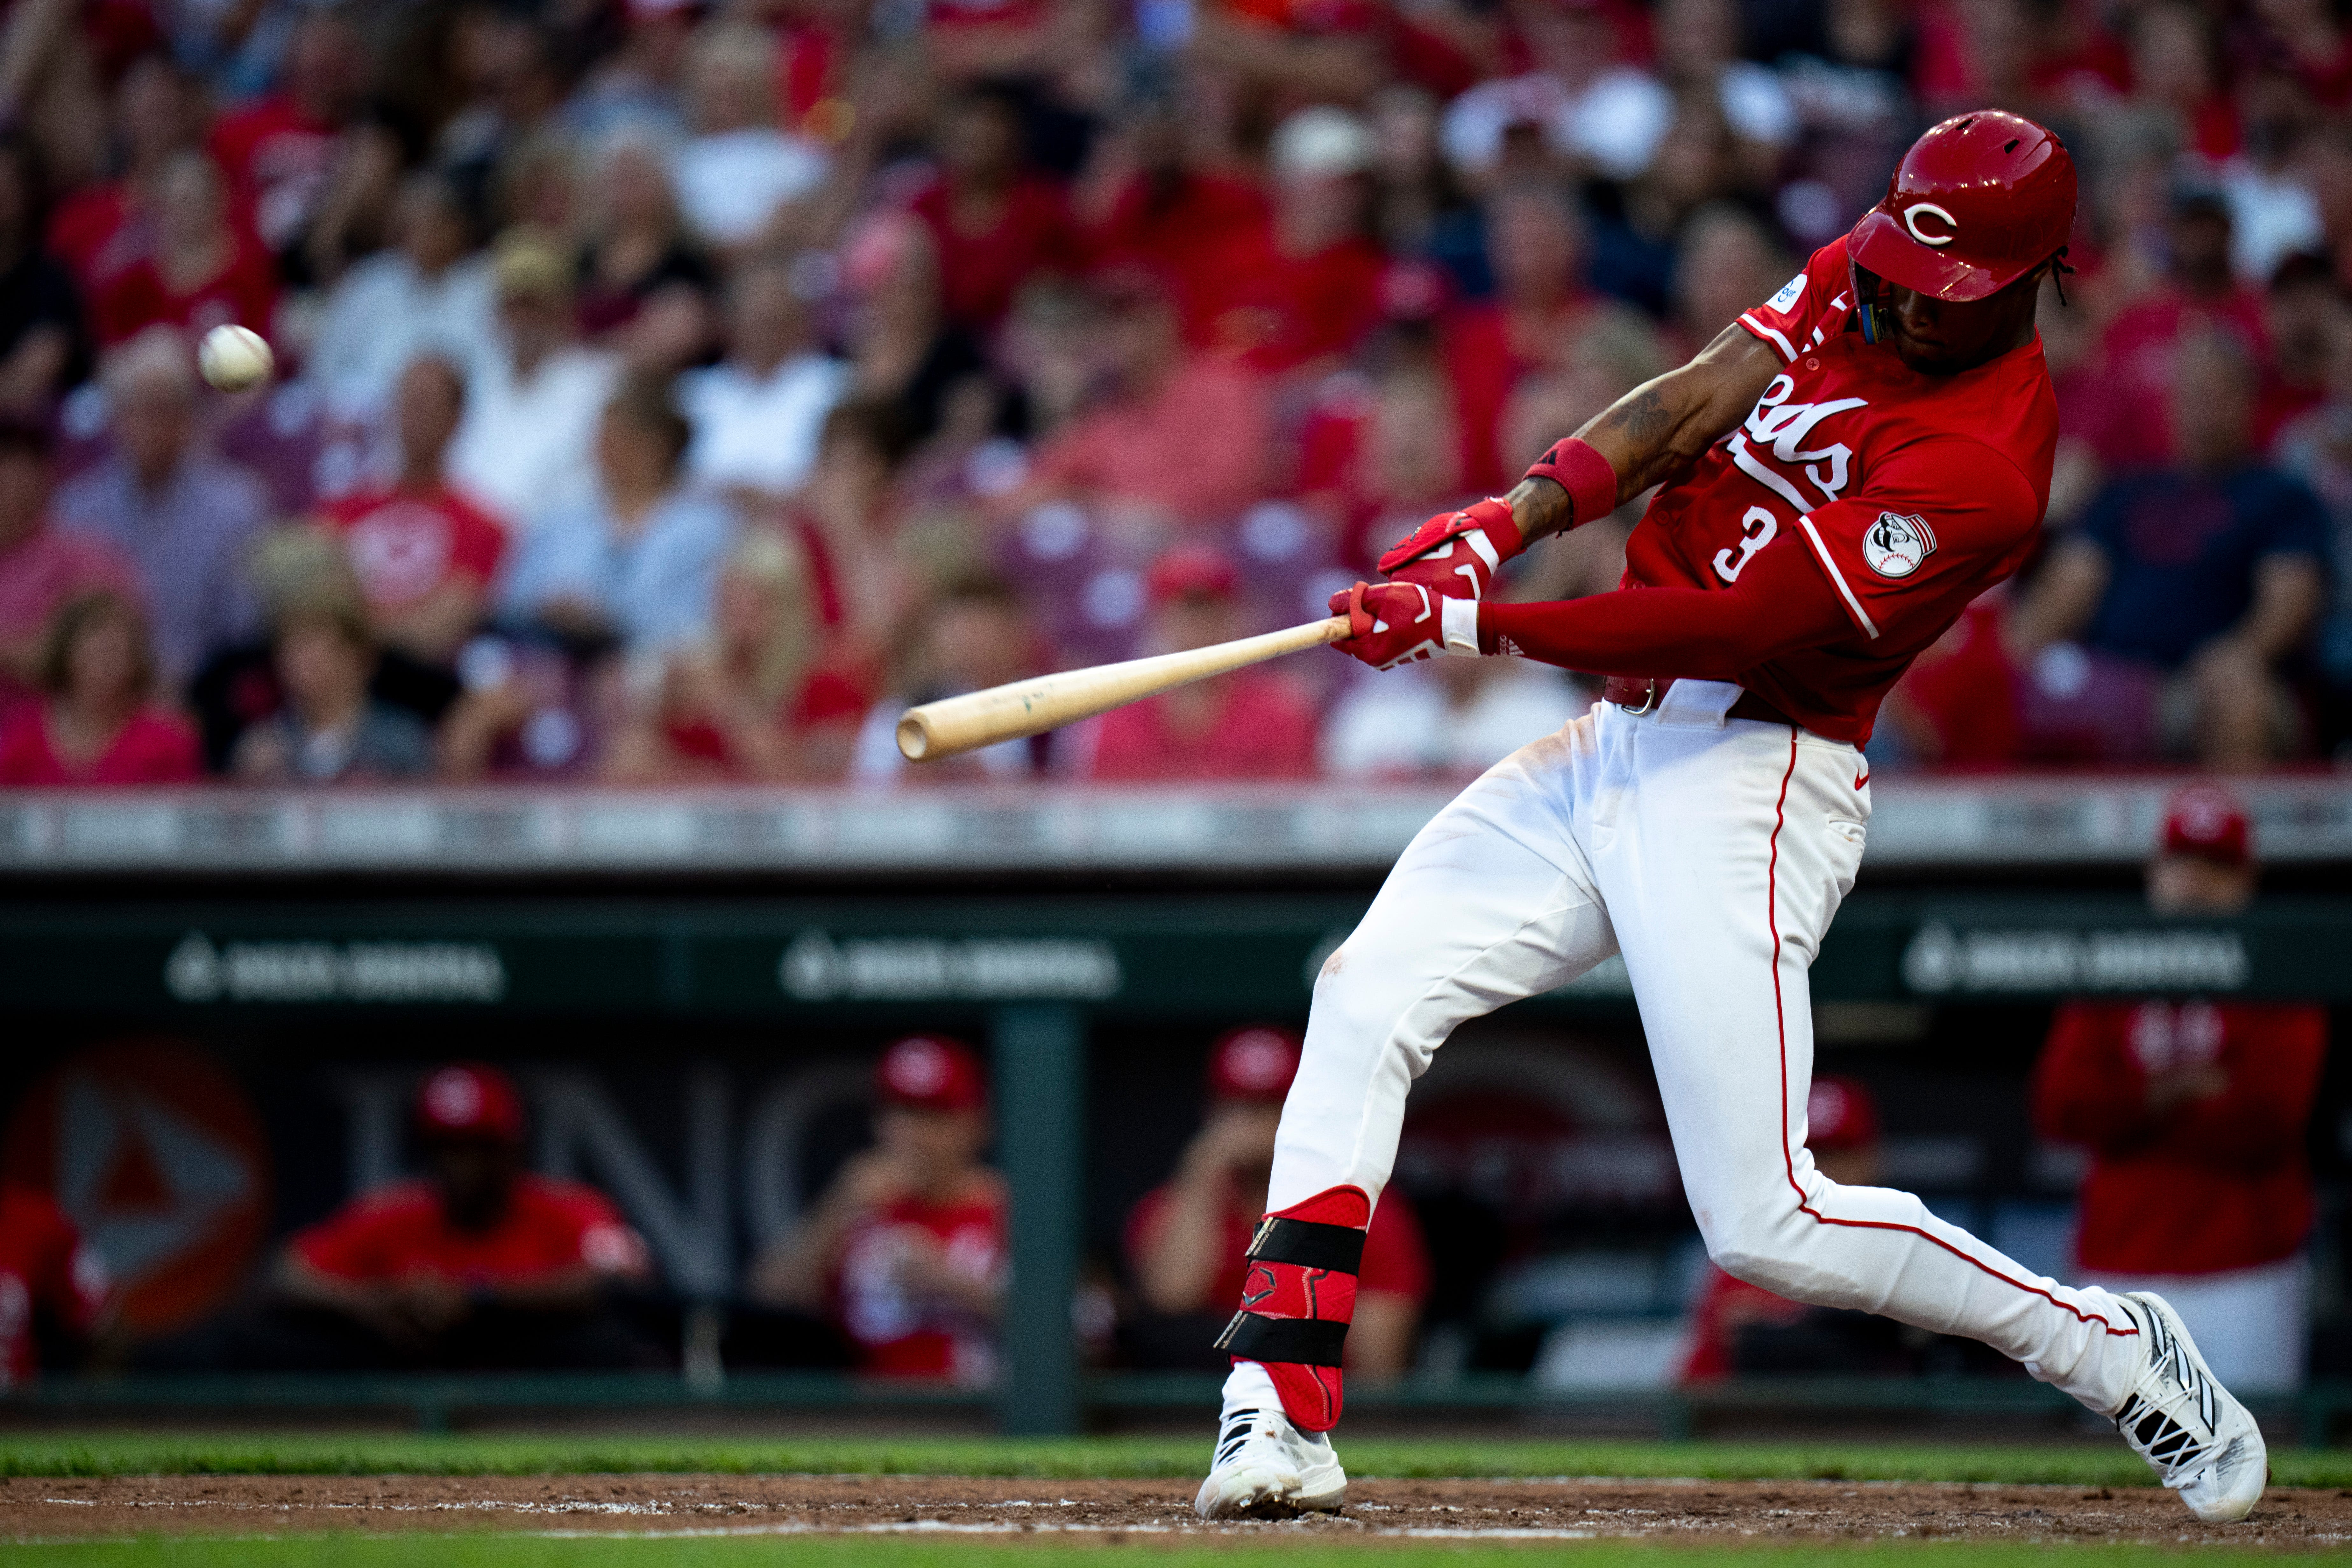
{"type": "Polygon", "coordinates": [[[1903,289],[1966,303],[2056,256],[2074,228],[2074,158],[2002,108],[1933,127],[1863,214],[1846,256],[1903,289]]]}

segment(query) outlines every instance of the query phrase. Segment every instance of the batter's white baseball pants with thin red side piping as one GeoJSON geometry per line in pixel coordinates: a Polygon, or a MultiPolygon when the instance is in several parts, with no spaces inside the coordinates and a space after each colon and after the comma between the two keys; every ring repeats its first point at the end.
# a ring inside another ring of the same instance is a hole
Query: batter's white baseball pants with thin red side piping
{"type": "Polygon", "coordinates": [[[1736,696],[1679,682],[1658,712],[1599,703],[1414,837],[1315,983],[1268,1208],[1341,1182],[1378,1199],[1406,1088],[1454,1025],[1623,952],[1717,1265],[1790,1300],[1983,1340],[2112,1413],[2138,1366],[2112,1295],[2025,1272],[1907,1192],[1813,1168],[1806,969],[1863,858],[1867,764],[1785,724],[1722,719],[1736,696]]]}

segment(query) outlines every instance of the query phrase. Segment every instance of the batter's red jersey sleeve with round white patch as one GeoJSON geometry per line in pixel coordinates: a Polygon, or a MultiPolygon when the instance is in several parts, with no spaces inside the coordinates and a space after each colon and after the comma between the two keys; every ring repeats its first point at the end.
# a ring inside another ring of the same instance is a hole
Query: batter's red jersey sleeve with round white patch
{"type": "Polygon", "coordinates": [[[2016,564],[2042,501],[1999,451],[1971,440],[1917,442],[1872,468],[1856,496],[1797,520],[1853,625],[1903,642],[1917,621],[1950,623],[1952,595],[1973,599],[2016,564]]]}

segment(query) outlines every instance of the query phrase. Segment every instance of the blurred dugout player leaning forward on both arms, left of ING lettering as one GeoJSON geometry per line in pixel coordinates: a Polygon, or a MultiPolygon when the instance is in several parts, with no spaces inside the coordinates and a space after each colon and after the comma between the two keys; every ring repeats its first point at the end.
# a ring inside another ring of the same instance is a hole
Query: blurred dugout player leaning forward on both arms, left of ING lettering
{"type": "Polygon", "coordinates": [[[522,1168],[522,1095],[496,1067],[442,1067],[414,1105],[426,1178],[362,1192],[287,1241],[245,1363],[640,1366],[612,1288],[649,1274],[602,1192],[522,1168]]]}

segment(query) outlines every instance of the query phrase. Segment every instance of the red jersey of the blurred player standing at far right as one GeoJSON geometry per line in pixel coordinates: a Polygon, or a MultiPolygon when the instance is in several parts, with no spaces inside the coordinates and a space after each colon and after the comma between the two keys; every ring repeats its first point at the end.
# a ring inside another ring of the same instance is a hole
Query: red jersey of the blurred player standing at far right
{"type": "Polygon", "coordinates": [[[2086,1269],[2216,1274],[2293,1258],[2312,1229],[2303,1128],[2328,1051],[2321,1006],[2070,1001],[2034,1067],[2034,1126],[2091,1150],[2086,1269]],[[2152,1110],[2150,1079],[2204,1077],[2152,1110]]]}

